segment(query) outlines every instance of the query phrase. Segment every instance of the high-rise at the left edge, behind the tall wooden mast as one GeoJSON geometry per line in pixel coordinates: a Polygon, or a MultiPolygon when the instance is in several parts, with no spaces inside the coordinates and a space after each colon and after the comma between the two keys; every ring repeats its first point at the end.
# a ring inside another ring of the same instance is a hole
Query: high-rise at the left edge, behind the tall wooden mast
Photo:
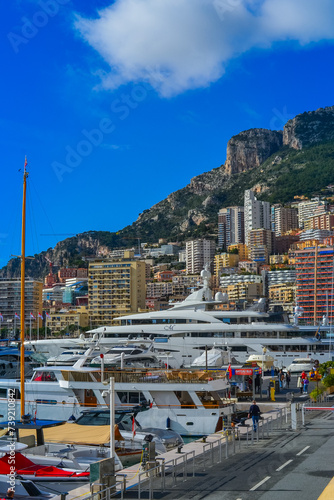
{"type": "MultiPolygon", "coordinates": [[[[37,327],[38,313],[42,313],[42,288],[43,283],[31,279],[25,280],[25,312],[24,322],[26,327],[32,323],[32,327],[37,327]],[[31,318],[30,313],[33,318],[31,318]]],[[[2,327],[8,327],[9,330],[20,327],[20,308],[21,308],[21,280],[19,279],[0,279],[0,313],[3,320],[2,327]]]]}

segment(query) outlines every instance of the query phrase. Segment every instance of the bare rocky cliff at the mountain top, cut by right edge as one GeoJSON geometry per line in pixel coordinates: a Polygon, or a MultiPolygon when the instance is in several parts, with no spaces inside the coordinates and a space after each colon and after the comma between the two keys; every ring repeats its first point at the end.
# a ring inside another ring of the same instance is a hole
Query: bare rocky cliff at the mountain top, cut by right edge
{"type": "Polygon", "coordinates": [[[297,115],[283,130],[283,144],[294,149],[334,139],[334,106],[297,115]]]}

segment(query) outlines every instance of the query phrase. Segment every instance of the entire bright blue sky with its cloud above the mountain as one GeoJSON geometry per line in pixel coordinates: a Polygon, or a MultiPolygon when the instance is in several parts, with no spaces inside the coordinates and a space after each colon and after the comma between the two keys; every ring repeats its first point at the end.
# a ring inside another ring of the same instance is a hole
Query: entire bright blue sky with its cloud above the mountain
{"type": "Polygon", "coordinates": [[[13,0],[2,34],[0,265],[115,231],[228,139],[334,104],[331,0],[13,0]],[[92,5],[94,4],[94,6],[92,5]]]}

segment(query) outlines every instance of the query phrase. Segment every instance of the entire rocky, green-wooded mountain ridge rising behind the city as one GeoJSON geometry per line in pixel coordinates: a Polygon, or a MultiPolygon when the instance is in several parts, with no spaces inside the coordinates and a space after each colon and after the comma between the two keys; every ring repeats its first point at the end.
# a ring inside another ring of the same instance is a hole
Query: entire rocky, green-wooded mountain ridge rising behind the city
{"type": "MultiPolygon", "coordinates": [[[[334,172],[334,106],[289,120],[283,131],[262,128],[241,131],[227,143],[226,162],[193,177],[189,184],[144,210],[117,232],[87,231],[62,240],[26,261],[27,275],[41,279],[51,262],[87,266],[87,258],[106,256],[114,248],[167,238],[184,241],[212,235],[217,212],[243,204],[245,189],[271,203],[293,201],[294,195],[332,194],[327,186],[334,172]],[[47,257],[47,259],[46,259],[47,257]]],[[[20,259],[11,259],[0,277],[20,274],[20,259]]]]}

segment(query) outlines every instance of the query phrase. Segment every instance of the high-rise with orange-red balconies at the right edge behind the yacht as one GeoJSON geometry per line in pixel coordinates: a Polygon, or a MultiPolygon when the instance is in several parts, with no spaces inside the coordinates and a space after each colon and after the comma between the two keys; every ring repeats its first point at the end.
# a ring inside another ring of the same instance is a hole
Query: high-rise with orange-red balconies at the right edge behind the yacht
{"type": "Polygon", "coordinates": [[[319,324],[324,315],[333,323],[333,246],[313,246],[295,251],[297,302],[301,319],[319,324]]]}

